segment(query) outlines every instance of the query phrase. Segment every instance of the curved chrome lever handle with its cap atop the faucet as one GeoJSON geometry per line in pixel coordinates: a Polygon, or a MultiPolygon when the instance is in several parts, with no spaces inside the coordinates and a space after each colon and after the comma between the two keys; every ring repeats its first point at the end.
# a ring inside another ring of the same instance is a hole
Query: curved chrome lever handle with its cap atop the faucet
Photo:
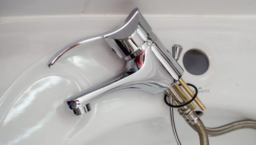
{"type": "Polygon", "coordinates": [[[135,8],[119,28],[99,35],[85,37],[66,45],[50,59],[48,66],[52,67],[63,54],[78,45],[101,38],[111,46],[120,58],[125,58],[128,61],[141,54],[152,42],[152,39],[155,39],[150,38],[151,33],[150,25],[141,15],[139,9],[135,8]]]}

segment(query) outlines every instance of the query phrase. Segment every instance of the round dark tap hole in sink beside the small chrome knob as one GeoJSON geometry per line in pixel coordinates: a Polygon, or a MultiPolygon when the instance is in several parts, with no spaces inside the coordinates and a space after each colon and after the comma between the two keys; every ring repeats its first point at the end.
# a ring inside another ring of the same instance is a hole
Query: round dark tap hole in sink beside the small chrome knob
{"type": "Polygon", "coordinates": [[[192,49],[184,54],[183,65],[190,74],[202,75],[208,70],[209,61],[204,52],[192,49]]]}

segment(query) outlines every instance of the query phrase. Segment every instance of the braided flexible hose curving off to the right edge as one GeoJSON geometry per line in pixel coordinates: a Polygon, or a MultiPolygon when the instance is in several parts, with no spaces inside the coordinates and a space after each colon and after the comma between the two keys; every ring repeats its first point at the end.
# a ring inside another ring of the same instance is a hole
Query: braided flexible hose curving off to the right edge
{"type": "Polygon", "coordinates": [[[256,121],[255,120],[241,120],[235,121],[232,123],[228,123],[223,126],[219,126],[217,128],[206,128],[208,136],[219,136],[221,134],[226,134],[228,132],[232,132],[234,130],[239,130],[243,128],[253,128],[256,129],[256,121]]]}

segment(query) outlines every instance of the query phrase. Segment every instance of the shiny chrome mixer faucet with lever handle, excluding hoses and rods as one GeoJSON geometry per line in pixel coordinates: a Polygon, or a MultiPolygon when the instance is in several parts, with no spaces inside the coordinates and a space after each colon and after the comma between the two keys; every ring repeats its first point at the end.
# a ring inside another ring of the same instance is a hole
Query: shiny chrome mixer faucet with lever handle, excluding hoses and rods
{"type": "Polygon", "coordinates": [[[65,106],[74,116],[88,112],[91,110],[91,101],[109,93],[123,90],[162,93],[176,83],[184,72],[152,32],[138,8],[128,15],[119,28],[79,39],[65,46],[50,59],[48,66],[52,67],[72,48],[101,38],[111,46],[113,52],[126,60],[126,67],[124,72],[111,82],[102,82],[65,100],[65,106]]]}

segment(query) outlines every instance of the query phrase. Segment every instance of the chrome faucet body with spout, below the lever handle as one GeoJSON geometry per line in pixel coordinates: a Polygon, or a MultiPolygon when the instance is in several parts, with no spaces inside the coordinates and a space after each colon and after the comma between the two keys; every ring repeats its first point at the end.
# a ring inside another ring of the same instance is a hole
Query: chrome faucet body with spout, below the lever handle
{"type": "Polygon", "coordinates": [[[86,105],[91,101],[117,91],[140,90],[152,94],[162,93],[177,82],[183,74],[180,65],[163,48],[160,41],[155,39],[148,49],[126,62],[127,69],[119,78],[110,83],[101,84],[98,88],[86,89],[65,100],[69,109],[73,110],[74,115],[86,113],[88,110],[86,105]],[[82,111],[74,111],[81,109],[82,111]]]}

